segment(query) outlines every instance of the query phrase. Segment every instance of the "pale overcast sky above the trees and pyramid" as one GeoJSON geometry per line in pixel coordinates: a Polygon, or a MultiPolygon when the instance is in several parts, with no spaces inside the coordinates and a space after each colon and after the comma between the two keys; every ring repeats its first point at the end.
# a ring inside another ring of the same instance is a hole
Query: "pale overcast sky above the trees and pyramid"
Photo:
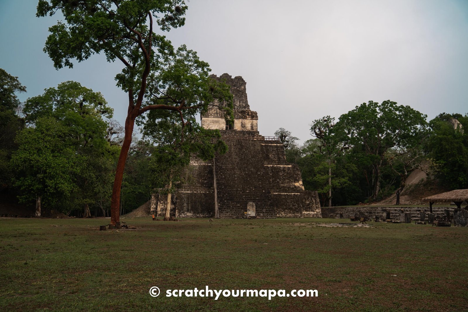
{"type": "MultiPolygon", "coordinates": [[[[428,115],[468,113],[468,0],[190,0],[187,44],[212,73],[242,76],[260,134],[283,127],[301,141],[309,124],[356,105],[392,100],[428,115]]],[[[28,88],[66,80],[100,91],[124,123],[119,63],[93,56],[55,70],[42,51],[57,17],[37,18],[37,0],[0,0],[0,67],[28,88]]]]}

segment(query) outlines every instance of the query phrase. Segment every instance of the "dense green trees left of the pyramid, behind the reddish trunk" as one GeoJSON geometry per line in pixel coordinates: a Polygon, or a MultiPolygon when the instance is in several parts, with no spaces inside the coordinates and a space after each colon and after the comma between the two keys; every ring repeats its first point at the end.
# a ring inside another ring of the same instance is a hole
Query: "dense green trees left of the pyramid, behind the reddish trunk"
{"type": "MultiPolygon", "coordinates": [[[[18,77],[0,69],[0,193],[2,201],[36,205],[82,217],[109,216],[124,127],[112,119],[99,92],[66,81],[20,102],[18,77]]],[[[120,214],[170,194],[188,177],[191,155],[212,159],[227,145],[219,131],[205,130],[196,111],[154,110],[139,118],[122,181],[120,214]]]]}

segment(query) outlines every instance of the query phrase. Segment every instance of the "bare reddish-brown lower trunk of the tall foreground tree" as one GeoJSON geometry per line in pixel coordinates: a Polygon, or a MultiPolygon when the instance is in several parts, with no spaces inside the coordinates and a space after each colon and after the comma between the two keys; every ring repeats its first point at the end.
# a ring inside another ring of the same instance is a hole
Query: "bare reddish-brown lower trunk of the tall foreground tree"
{"type": "Polygon", "coordinates": [[[127,160],[130,144],[132,143],[133,127],[135,125],[135,117],[137,114],[132,114],[132,108],[129,107],[127,119],[125,120],[125,136],[120,155],[118,157],[116,176],[114,178],[114,187],[112,188],[112,198],[110,200],[110,224],[116,225],[120,222],[120,189],[122,187],[122,178],[124,177],[125,161],[127,160]],[[132,115],[135,115],[133,117],[132,115]]]}

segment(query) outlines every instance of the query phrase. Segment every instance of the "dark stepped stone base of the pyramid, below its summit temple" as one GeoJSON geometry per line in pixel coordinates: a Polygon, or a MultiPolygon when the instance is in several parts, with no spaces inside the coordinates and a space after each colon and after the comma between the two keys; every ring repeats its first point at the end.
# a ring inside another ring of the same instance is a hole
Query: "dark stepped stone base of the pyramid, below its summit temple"
{"type": "MultiPolygon", "coordinates": [[[[221,136],[229,147],[214,160],[221,218],[247,218],[252,204],[258,218],[321,217],[317,193],[304,190],[299,168],[286,162],[279,141],[265,141],[256,131],[221,131],[221,136]]],[[[191,182],[173,196],[171,215],[213,217],[213,164],[192,160],[187,174],[191,182]]],[[[165,207],[165,197],[159,201],[165,207]]]]}

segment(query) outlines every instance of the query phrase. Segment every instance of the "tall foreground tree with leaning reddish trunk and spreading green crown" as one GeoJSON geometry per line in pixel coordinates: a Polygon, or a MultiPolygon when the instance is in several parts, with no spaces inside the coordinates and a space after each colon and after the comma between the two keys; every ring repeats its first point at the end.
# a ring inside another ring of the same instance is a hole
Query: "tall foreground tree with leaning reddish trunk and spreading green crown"
{"type": "MultiPolygon", "coordinates": [[[[161,31],[183,26],[187,6],[181,0],[39,0],[37,16],[60,11],[65,22],[49,28],[44,51],[55,68],[72,68],[71,60],[103,52],[124,68],[115,77],[128,94],[125,136],[117,162],[111,198],[112,225],[119,222],[120,189],[135,120],[146,111],[176,111],[182,123],[187,111],[203,111],[214,99],[230,100],[229,88],[209,77],[208,64],[181,46],[174,51],[161,31]]],[[[229,101],[227,101],[229,103],[229,101]]],[[[227,107],[229,113],[229,107],[227,107]]]]}

